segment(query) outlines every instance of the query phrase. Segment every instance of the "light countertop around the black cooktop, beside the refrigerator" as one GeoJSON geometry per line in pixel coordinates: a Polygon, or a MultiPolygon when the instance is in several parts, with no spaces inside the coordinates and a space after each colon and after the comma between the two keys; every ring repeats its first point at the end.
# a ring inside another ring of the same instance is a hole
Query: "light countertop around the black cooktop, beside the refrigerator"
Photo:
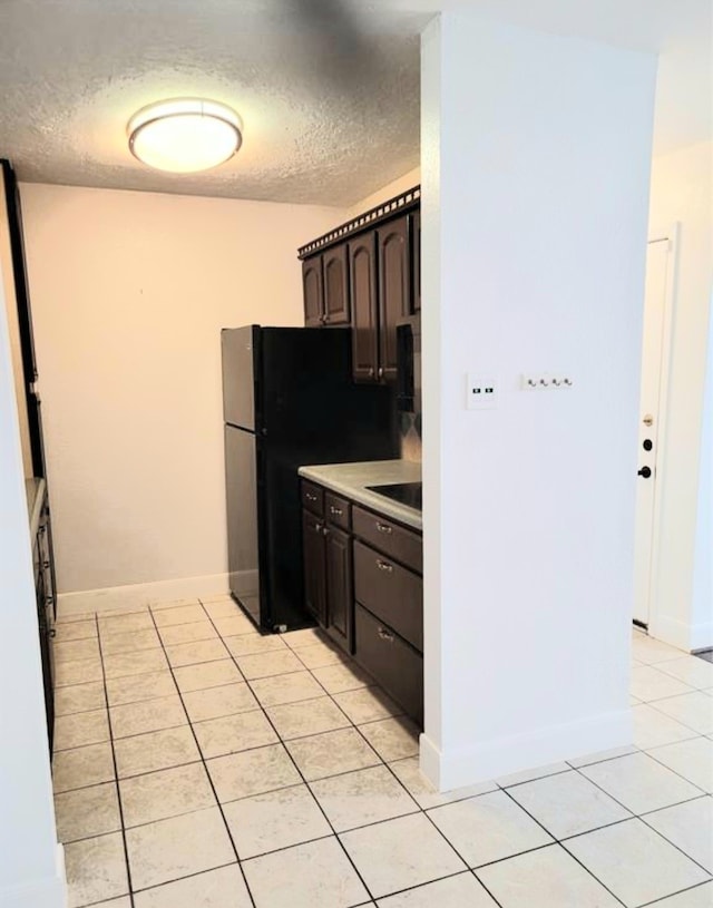
{"type": "Polygon", "coordinates": [[[392,520],[421,530],[421,511],[392,501],[368,486],[387,486],[395,482],[420,482],[421,465],[410,460],[368,460],[361,463],[323,463],[300,467],[300,476],[343,495],[352,501],[383,514],[392,520]]]}

